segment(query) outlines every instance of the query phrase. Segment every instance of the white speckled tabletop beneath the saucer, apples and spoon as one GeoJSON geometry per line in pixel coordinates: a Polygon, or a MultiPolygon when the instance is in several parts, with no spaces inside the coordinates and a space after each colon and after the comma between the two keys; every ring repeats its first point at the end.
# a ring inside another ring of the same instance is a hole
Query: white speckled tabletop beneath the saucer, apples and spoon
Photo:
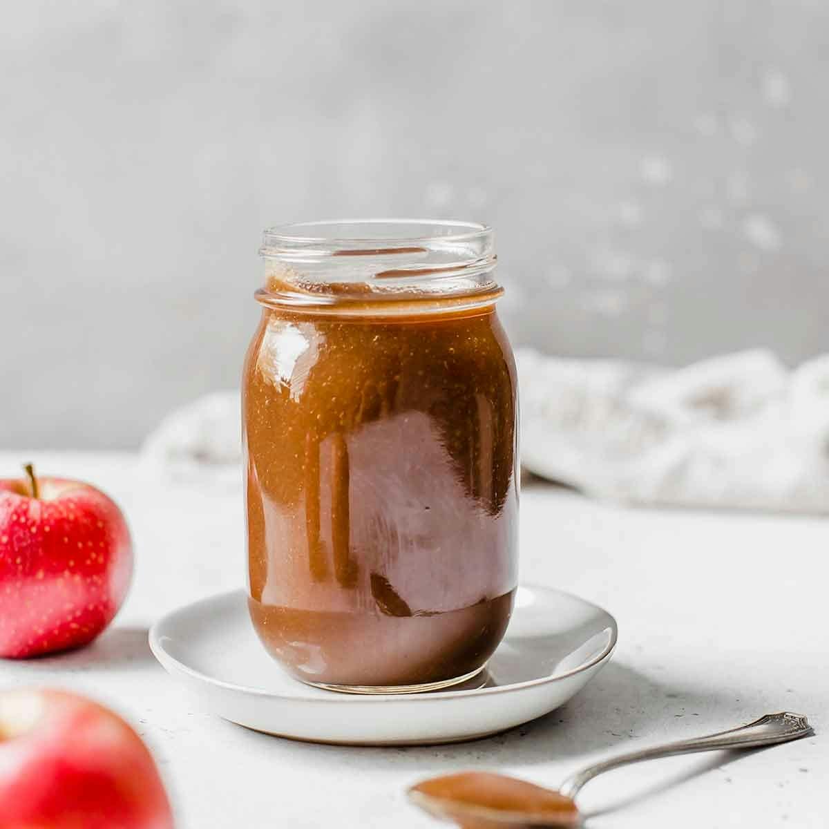
{"type": "Polygon", "coordinates": [[[201,712],[153,659],[161,613],[244,584],[240,492],[162,483],[133,454],[0,453],[84,478],[128,516],[133,588],[78,652],[4,662],[2,684],[48,684],[119,710],[158,759],[179,827],[437,826],[405,801],[419,778],[492,768],[555,786],[584,764],[778,710],[817,736],[749,754],[701,754],[608,774],[584,789],[591,827],[825,827],[829,806],[829,524],[819,518],[645,511],[531,482],[521,579],[618,619],[613,660],[560,710],[468,744],[367,749],[269,737],[201,712]],[[820,781],[823,781],[823,784],[820,781]]]}

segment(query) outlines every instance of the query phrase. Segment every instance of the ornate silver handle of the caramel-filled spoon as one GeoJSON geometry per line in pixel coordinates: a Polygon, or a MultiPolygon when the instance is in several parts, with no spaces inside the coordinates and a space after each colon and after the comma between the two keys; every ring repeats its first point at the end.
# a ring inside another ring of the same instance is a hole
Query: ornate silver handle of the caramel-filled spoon
{"type": "Polygon", "coordinates": [[[601,763],[576,772],[562,783],[559,791],[567,797],[575,797],[579,790],[598,774],[613,768],[638,763],[640,760],[655,760],[658,757],[670,757],[673,754],[691,754],[695,751],[714,751],[716,749],[754,749],[762,745],[786,743],[790,739],[799,739],[814,734],[806,717],[783,711],[780,714],[767,714],[749,725],[740,725],[730,731],[718,731],[705,737],[681,739],[676,743],[657,745],[651,749],[619,754],[601,763]]]}

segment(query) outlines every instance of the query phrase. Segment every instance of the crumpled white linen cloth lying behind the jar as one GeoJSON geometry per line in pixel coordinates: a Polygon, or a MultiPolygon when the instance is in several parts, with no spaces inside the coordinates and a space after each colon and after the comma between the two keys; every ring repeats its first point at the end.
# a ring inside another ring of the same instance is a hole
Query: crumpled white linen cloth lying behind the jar
{"type": "MultiPolygon", "coordinates": [[[[829,355],[771,351],[682,369],[516,353],[521,462],[617,502],[829,512],[829,355]]],[[[143,446],[153,473],[240,485],[240,399],[176,410],[143,446]]]]}

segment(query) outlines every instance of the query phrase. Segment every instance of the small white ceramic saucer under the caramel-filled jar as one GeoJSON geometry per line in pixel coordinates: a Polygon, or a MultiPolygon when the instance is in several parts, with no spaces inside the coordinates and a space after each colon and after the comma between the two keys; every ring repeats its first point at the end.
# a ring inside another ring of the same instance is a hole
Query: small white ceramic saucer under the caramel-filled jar
{"type": "Polygon", "coordinates": [[[487,671],[424,694],[354,696],[291,679],[259,644],[241,590],[168,613],[150,647],[202,708],[293,739],[356,745],[451,743],[534,720],[563,705],[608,662],[616,620],[559,590],[521,587],[487,671]]]}

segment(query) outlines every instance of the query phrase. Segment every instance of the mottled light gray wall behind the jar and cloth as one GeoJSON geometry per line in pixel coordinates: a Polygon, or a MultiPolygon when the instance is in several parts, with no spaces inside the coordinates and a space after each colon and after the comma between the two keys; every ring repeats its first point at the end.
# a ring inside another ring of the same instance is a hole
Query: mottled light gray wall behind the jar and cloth
{"type": "Polygon", "coordinates": [[[821,0],[14,0],[0,446],[235,385],[259,230],[495,225],[518,343],[829,347],[821,0]]]}

